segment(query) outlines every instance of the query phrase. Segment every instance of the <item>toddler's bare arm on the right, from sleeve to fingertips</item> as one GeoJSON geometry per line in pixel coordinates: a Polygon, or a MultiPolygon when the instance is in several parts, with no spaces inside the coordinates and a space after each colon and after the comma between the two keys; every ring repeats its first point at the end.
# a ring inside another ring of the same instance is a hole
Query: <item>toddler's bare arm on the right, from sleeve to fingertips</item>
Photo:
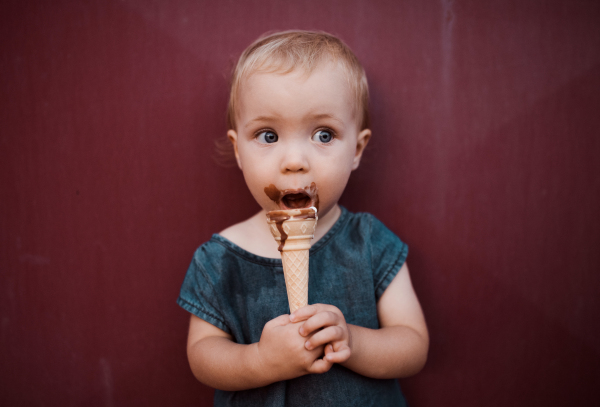
{"type": "Polygon", "coordinates": [[[309,305],[292,318],[306,320],[301,335],[314,332],[305,344],[307,349],[325,344],[326,359],[331,362],[378,379],[418,373],[427,360],[429,335],[406,264],[379,299],[377,314],[380,329],[346,324],[332,305],[309,305]]]}

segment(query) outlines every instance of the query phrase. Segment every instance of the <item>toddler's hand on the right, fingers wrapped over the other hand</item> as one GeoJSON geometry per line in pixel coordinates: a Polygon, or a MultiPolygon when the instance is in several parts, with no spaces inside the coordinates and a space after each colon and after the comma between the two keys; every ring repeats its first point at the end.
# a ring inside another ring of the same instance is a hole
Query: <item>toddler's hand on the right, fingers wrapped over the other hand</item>
{"type": "Polygon", "coordinates": [[[308,350],[325,346],[324,360],[331,363],[344,363],[352,354],[350,330],[344,314],[336,306],[312,304],[296,310],[290,321],[301,324],[298,332],[308,337],[304,347],[308,350]]]}

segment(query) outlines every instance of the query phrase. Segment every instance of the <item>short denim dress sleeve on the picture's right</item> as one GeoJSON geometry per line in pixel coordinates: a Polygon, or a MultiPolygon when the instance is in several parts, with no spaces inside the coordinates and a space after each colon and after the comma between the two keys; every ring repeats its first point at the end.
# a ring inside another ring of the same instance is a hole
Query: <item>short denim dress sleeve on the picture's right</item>
{"type": "Polygon", "coordinates": [[[375,296],[379,301],[406,261],[408,245],[374,216],[371,216],[370,236],[375,296]]]}

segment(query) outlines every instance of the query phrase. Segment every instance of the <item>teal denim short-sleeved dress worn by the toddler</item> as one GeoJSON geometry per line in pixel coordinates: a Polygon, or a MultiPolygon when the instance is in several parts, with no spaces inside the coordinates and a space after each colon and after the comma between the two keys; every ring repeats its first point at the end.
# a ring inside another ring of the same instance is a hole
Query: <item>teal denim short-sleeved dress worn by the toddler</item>
{"type": "MultiPolygon", "coordinates": [[[[338,307],[346,322],[377,329],[377,301],[408,247],[373,215],[342,214],[310,249],[309,304],[338,307]]],[[[220,235],[200,246],[177,303],[227,332],[258,342],[264,325],[289,313],[280,259],[249,253],[220,235]]],[[[405,406],[395,379],[371,379],[340,365],[324,374],[237,392],[216,390],[216,406],[405,406]]]]}

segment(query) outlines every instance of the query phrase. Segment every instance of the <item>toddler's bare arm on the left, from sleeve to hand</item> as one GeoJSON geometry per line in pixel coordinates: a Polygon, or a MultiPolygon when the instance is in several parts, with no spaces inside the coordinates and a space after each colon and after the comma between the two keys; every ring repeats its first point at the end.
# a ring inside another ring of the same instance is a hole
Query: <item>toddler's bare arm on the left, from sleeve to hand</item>
{"type": "Polygon", "coordinates": [[[250,345],[233,342],[231,335],[192,315],[188,360],[202,383],[221,390],[245,390],[329,370],[332,363],[320,359],[323,346],[307,350],[305,341],[288,315],[269,321],[260,341],[250,345]]]}

